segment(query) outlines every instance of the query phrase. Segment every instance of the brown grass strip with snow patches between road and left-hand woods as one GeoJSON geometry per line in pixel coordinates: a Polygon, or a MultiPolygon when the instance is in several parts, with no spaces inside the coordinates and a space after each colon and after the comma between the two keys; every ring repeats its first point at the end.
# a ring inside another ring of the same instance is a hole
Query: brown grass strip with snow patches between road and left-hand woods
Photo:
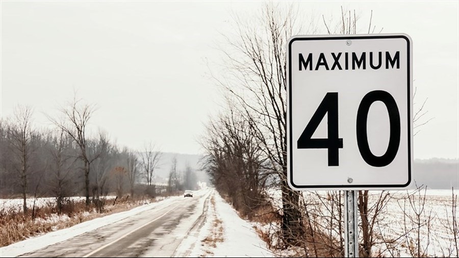
{"type": "Polygon", "coordinates": [[[44,233],[55,231],[73,225],[104,217],[110,214],[131,210],[140,205],[160,201],[167,196],[181,195],[182,192],[164,193],[161,196],[150,197],[148,195],[124,195],[107,196],[104,201],[103,210],[95,204],[86,206],[84,197],[69,197],[58,207],[54,198],[28,199],[35,202],[32,208],[34,216],[23,211],[17,205],[17,199],[0,199],[0,247],[13,244],[30,237],[40,236],[44,233]]]}

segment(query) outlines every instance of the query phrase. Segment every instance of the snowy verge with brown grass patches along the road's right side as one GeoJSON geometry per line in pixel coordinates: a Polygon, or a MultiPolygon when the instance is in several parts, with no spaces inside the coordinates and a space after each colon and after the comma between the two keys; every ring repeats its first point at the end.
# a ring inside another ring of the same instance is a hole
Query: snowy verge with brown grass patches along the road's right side
{"type": "Polygon", "coordinates": [[[241,219],[217,191],[212,198],[199,234],[183,242],[196,243],[189,257],[274,257],[252,224],[241,219]]]}

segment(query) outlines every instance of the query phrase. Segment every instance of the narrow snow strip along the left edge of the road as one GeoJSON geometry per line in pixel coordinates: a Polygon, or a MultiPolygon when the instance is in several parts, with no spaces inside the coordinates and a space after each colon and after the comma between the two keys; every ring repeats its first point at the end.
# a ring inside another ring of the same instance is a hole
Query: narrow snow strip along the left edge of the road
{"type": "Polygon", "coordinates": [[[24,253],[32,252],[34,250],[41,249],[48,245],[53,245],[72,237],[79,236],[88,231],[94,230],[99,227],[103,227],[109,224],[112,224],[116,221],[125,219],[127,217],[133,216],[143,211],[147,211],[152,208],[162,208],[167,207],[173,200],[181,198],[182,196],[168,197],[162,201],[154,202],[151,204],[143,205],[137,208],[134,208],[130,211],[115,213],[112,215],[107,215],[105,217],[96,218],[80,224],[74,225],[69,228],[53,231],[45,235],[30,238],[21,242],[11,244],[9,246],[0,248],[0,256],[2,257],[14,257],[22,255],[24,253]]]}

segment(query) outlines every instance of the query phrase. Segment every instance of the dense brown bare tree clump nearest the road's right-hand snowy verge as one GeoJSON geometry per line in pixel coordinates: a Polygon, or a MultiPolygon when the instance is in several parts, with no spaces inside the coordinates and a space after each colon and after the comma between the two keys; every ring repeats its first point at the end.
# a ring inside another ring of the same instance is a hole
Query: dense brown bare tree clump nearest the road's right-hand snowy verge
{"type": "Polygon", "coordinates": [[[208,125],[201,145],[207,150],[204,169],[216,189],[251,218],[266,203],[263,192],[272,173],[250,121],[234,112],[220,115],[208,125]]]}

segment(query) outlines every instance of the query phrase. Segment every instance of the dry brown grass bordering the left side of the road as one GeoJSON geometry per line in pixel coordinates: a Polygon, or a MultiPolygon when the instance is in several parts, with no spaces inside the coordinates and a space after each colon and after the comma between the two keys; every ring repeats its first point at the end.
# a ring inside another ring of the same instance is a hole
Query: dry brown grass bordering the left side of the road
{"type": "Polygon", "coordinates": [[[60,216],[57,215],[55,205],[48,204],[45,207],[36,208],[34,219],[32,219],[31,211],[23,214],[13,209],[2,208],[0,209],[0,236],[2,236],[0,247],[95,218],[131,210],[142,205],[144,200],[144,198],[132,198],[127,201],[118,200],[116,203],[110,201],[110,204],[104,208],[104,213],[97,213],[92,205],[87,208],[84,201],[71,201],[65,205],[60,216]]]}

